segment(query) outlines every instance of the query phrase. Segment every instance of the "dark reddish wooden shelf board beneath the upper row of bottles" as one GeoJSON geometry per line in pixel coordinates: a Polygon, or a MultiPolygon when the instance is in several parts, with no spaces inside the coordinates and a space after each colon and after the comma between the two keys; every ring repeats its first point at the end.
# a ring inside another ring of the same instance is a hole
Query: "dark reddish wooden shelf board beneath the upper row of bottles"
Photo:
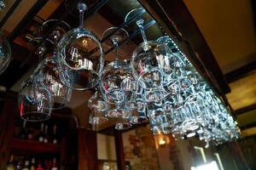
{"type": "Polygon", "coordinates": [[[34,153],[61,153],[61,144],[45,144],[33,140],[13,138],[10,140],[10,149],[12,151],[34,153]]]}

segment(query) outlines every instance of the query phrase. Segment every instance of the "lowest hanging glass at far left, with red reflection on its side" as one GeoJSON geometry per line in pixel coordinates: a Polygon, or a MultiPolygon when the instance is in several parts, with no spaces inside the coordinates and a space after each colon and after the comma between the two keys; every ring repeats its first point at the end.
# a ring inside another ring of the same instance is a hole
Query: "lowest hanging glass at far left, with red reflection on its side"
{"type": "Polygon", "coordinates": [[[53,101],[48,88],[34,82],[34,77],[29,77],[21,85],[18,98],[20,118],[30,122],[45,121],[51,115],[53,101]]]}

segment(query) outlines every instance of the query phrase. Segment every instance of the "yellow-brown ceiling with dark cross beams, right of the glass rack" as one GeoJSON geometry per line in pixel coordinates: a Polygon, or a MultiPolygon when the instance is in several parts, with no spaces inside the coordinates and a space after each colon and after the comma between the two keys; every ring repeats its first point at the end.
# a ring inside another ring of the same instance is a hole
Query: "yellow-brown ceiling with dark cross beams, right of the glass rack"
{"type": "Polygon", "coordinates": [[[255,1],[183,0],[231,89],[226,94],[244,135],[255,135],[256,31],[255,1]]]}

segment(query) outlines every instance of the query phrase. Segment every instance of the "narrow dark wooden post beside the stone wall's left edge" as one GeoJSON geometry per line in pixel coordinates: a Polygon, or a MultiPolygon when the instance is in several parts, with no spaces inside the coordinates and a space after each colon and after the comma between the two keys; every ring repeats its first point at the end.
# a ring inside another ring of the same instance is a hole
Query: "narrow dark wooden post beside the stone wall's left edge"
{"type": "Polygon", "coordinates": [[[123,138],[122,133],[118,130],[114,130],[114,142],[118,169],[125,170],[125,152],[123,146],[123,138]]]}

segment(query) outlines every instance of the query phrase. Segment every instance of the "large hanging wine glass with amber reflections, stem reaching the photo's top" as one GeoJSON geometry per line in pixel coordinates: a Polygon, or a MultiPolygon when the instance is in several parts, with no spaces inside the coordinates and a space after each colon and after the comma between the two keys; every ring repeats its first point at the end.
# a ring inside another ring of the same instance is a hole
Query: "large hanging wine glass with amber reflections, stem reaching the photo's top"
{"type": "MultiPolygon", "coordinates": [[[[62,62],[74,75],[74,83],[70,88],[76,90],[95,88],[104,64],[101,42],[96,35],[83,27],[86,8],[84,3],[78,3],[79,27],[67,31],[58,43],[62,62]]],[[[62,82],[66,84],[67,77],[62,77],[62,82]]]]}

